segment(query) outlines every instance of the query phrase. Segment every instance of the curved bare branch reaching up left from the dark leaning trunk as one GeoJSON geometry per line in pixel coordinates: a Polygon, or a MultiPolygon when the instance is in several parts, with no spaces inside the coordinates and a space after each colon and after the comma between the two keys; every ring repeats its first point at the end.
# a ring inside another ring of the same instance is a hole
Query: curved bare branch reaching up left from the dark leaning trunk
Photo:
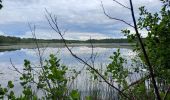
{"type": "Polygon", "coordinates": [[[120,22],[123,22],[123,23],[125,23],[126,25],[128,25],[128,26],[130,26],[130,27],[133,27],[134,28],[134,26],[133,25],[131,25],[130,23],[128,23],[128,22],[126,22],[126,21],[124,21],[123,19],[119,19],[119,18],[115,18],[115,17],[111,17],[110,15],[108,15],[107,13],[106,13],[106,10],[105,10],[105,8],[104,8],[104,6],[103,6],[103,3],[101,2],[101,6],[102,6],[102,9],[103,9],[103,13],[109,18],[109,19],[113,19],[113,20],[117,20],[117,21],[120,21],[120,22]]]}

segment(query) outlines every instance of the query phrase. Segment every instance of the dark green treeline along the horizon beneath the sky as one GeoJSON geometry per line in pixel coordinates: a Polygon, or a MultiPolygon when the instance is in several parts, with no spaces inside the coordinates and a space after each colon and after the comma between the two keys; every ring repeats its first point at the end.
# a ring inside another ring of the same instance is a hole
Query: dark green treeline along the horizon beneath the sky
{"type": "MultiPolygon", "coordinates": [[[[37,39],[39,43],[62,43],[61,39],[37,39]]],[[[66,40],[67,43],[128,43],[127,39],[91,39],[91,40],[66,40]]],[[[33,38],[19,38],[12,36],[0,36],[0,43],[34,43],[33,38]]]]}

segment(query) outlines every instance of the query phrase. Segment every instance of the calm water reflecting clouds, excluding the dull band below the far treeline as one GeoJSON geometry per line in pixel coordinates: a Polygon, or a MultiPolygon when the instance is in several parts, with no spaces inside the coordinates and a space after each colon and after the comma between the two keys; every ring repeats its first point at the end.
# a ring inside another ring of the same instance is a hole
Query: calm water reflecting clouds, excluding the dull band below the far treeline
{"type": "MultiPolygon", "coordinates": [[[[82,59],[88,59],[92,53],[92,49],[86,46],[73,47],[72,51],[82,59]]],[[[105,66],[111,62],[109,56],[112,55],[115,51],[117,51],[117,48],[95,47],[94,54],[97,54],[95,59],[95,67],[105,69],[105,66]]],[[[120,48],[120,52],[126,59],[134,58],[136,55],[136,53],[132,52],[131,49],[127,48],[120,48]]],[[[67,65],[69,68],[74,68],[77,71],[83,69],[82,73],[77,77],[72,85],[72,88],[79,89],[82,95],[89,95],[89,93],[91,93],[89,91],[110,91],[106,84],[97,82],[95,83],[94,81],[91,81],[90,75],[87,74],[88,72],[86,71],[86,66],[84,67],[82,63],[73,58],[66,48],[50,47],[46,48],[45,50],[44,48],[41,48],[41,53],[43,53],[44,59],[48,58],[50,54],[55,54],[58,58],[61,59],[61,63],[67,65]]],[[[15,51],[0,52],[0,84],[6,85],[8,80],[13,80],[15,82],[15,88],[19,88],[19,74],[12,70],[13,68],[10,63],[10,58],[12,59],[13,64],[19,70],[21,70],[23,68],[24,59],[30,60],[34,65],[39,64],[37,55],[37,49],[20,49],[15,51]]],[[[112,92],[110,91],[110,93],[112,92]]],[[[98,92],[95,93],[97,94],[98,92]]],[[[103,94],[102,96],[105,95],[106,94],[103,94]]],[[[107,97],[108,95],[109,94],[107,94],[107,97]]],[[[111,94],[111,96],[114,95],[111,94]]]]}

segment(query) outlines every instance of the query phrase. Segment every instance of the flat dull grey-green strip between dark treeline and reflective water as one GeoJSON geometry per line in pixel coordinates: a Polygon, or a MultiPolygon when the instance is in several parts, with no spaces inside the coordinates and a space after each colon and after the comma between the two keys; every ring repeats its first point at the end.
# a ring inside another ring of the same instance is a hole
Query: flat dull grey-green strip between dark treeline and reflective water
{"type": "MultiPolygon", "coordinates": [[[[101,47],[101,48],[132,48],[134,44],[130,43],[69,43],[69,47],[101,47]]],[[[39,48],[51,47],[51,48],[64,48],[63,43],[38,43],[39,48]]],[[[0,51],[10,51],[18,49],[34,49],[37,48],[35,43],[12,43],[12,44],[0,44],[0,51]]]]}

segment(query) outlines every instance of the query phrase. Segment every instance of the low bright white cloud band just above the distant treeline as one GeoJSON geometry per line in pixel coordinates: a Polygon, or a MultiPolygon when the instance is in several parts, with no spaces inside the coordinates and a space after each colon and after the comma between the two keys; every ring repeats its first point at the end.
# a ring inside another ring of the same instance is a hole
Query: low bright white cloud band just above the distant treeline
{"type": "MultiPolygon", "coordinates": [[[[36,30],[36,37],[40,39],[61,39],[60,35],[53,30],[36,30]]],[[[22,38],[32,38],[32,33],[26,32],[24,35],[18,35],[22,38]]],[[[102,33],[88,33],[88,32],[66,32],[64,34],[65,39],[69,40],[87,40],[87,39],[105,39],[110,38],[102,33]]]]}

